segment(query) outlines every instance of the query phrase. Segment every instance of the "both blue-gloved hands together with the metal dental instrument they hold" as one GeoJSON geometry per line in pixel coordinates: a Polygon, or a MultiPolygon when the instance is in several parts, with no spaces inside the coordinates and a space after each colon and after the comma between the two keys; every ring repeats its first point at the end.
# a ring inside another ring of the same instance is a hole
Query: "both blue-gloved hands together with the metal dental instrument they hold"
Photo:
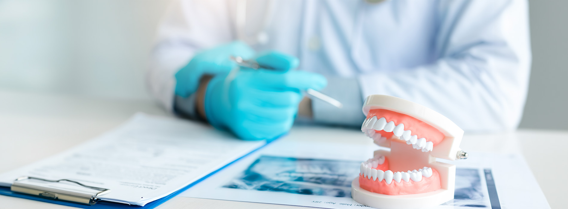
{"type": "Polygon", "coordinates": [[[341,105],[316,91],[327,85],[323,76],[292,70],[298,58],[279,52],[255,55],[241,41],[197,53],[176,73],[176,95],[196,93],[204,119],[247,140],[274,139],[289,131],[304,91],[341,105]]]}

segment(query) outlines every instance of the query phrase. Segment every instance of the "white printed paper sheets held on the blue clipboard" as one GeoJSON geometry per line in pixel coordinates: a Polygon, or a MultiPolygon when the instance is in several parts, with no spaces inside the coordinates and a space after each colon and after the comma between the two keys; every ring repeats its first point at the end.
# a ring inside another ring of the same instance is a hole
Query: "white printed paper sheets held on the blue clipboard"
{"type": "Polygon", "coordinates": [[[0,174],[0,186],[30,176],[111,189],[103,200],[144,206],[265,145],[202,123],[136,114],[114,131],[0,174]]]}

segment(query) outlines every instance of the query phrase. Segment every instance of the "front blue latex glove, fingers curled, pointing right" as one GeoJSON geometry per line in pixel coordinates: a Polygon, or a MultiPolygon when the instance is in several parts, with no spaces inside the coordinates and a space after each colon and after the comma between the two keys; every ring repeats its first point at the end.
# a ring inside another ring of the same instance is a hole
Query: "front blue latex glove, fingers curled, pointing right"
{"type": "Polygon", "coordinates": [[[290,70],[298,58],[278,52],[256,58],[274,70],[241,68],[211,79],[205,114],[213,126],[229,129],[244,140],[274,139],[290,130],[302,91],[327,85],[320,74],[290,70]]]}

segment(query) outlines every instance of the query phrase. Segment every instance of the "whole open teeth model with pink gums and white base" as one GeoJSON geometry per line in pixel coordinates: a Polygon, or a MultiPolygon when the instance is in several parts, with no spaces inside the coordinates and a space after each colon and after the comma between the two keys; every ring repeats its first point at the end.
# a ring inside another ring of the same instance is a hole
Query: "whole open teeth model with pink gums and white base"
{"type": "Polygon", "coordinates": [[[388,95],[370,95],[361,131],[381,147],[361,162],[352,197],[366,206],[432,207],[453,199],[456,167],[436,158],[467,157],[459,148],[463,131],[427,107],[388,95]]]}

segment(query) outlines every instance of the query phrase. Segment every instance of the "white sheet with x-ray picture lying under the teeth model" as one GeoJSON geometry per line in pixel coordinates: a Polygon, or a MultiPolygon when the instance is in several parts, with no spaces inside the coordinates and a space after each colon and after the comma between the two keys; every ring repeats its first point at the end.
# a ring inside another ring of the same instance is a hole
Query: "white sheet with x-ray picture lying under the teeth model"
{"type": "MultiPolygon", "coordinates": [[[[320,208],[368,208],[351,198],[350,186],[359,175],[361,162],[372,157],[369,153],[377,148],[279,139],[180,195],[320,208]]],[[[470,154],[463,161],[442,160],[457,165],[456,193],[453,200],[434,208],[549,208],[521,157],[470,154]]]]}

